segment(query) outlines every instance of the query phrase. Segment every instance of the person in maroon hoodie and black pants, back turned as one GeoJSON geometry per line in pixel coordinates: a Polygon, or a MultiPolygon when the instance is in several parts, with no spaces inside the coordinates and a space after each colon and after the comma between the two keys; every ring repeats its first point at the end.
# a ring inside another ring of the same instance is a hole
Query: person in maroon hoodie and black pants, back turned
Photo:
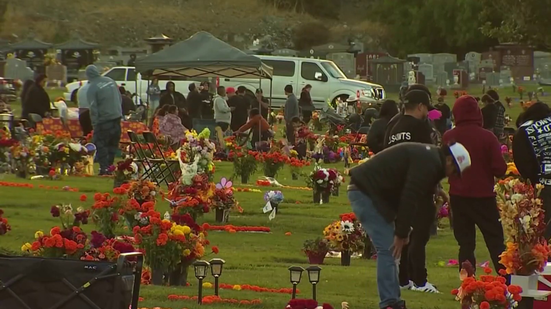
{"type": "Polygon", "coordinates": [[[476,98],[459,97],[452,113],[456,126],[446,131],[442,142],[461,143],[471,154],[471,168],[462,173],[461,178],[449,177],[453,235],[459,245],[459,264],[469,261],[476,266],[474,226],[477,225],[498,271],[504,268],[499,263],[499,255],[505,250],[505,245],[495,200],[494,177],[505,175],[507,164],[498,138],[482,127],[482,112],[476,98]]]}

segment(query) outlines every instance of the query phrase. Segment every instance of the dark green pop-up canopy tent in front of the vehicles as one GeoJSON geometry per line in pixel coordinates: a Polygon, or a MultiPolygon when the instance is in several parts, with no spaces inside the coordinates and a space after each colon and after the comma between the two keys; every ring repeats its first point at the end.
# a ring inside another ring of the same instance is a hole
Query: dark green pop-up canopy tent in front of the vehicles
{"type": "MultiPolygon", "coordinates": [[[[136,59],[136,71],[153,76],[272,80],[273,68],[205,31],[136,59]]],[[[270,84],[270,106],[272,103],[270,84]]],[[[260,126],[258,128],[260,131],[260,126]]]]}

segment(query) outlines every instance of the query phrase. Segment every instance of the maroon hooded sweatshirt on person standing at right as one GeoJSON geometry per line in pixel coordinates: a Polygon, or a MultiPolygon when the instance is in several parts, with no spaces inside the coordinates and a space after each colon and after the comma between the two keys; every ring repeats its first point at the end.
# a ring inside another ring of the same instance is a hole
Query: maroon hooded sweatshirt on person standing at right
{"type": "Polygon", "coordinates": [[[450,195],[462,197],[492,197],[494,177],[501,177],[507,164],[495,135],[483,128],[482,112],[476,98],[461,96],[452,109],[455,128],[446,131],[443,142],[461,143],[471,156],[471,168],[458,176],[450,176],[450,195]]]}

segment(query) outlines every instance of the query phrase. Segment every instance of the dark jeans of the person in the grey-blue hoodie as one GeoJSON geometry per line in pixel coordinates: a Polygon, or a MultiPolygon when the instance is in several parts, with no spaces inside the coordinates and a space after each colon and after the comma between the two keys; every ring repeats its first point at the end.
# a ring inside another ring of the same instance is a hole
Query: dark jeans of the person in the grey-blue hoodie
{"type": "Polygon", "coordinates": [[[100,164],[100,175],[115,162],[118,143],[121,141],[121,119],[109,120],[94,126],[94,145],[96,145],[96,162],[100,164]]]}

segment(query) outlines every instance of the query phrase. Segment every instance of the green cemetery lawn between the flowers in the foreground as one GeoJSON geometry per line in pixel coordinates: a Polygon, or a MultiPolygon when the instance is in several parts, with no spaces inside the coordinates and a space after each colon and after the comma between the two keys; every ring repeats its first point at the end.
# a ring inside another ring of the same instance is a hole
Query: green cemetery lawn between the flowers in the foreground
{"type": "MultiPolygon", "coordinates": [[[[343,168],[342,164],[332,164],[338,169],[343,168]]],[[[311,167],[309,167],[311,169],[311,167]]],[[[228,162],[216,163],[215,181],[223,176],[230,177],[233,173],[233,166],[228,162]]],[[[255,180],[260,173],[252,176],[255,180]]],[[[302,180],[291,180],[288,168],[284,168],[279,176],[280,183],[290,186],[304,186],[302,180]]],[[[1,181],[15,181],[33,183],[34,189],[21,187],[0,187],[0,208],[4,210],[4,216],[12,225],[12,231],[0,237],[0,247],[18,251],[25,242],[32,242],[36,230],[48,231],[58,224],[57,218],[50,215],[50,207],[58,203],[72,203],[73,207],[83,206],[89,208],[92,196],[95,192],[106,192],[112,190],[113,180],[100,177],[66,177],[59,181],[48,180],[23,180],[13,175],[4,175],[1,181]],[[39,189],[39,185],[48,186],[71,186],[79,189],[79,192],[68,192],[61,190],[39,189]],[[88,201],[80,202],[82,194],[88,196],[88,201]]],[[[239,182],[239,181],[238,181],[239,182]]],[[[253,181],[251,181],[253,182],[253,181]]],[[[243,187],[234,184],[236,187],[243,187]]],[[[263,192],[266,187],[260,187],[263,192]]],[[[263,233],[235,233],[211,231],[208,239],[211,245],[219,247],[217,257],[226,261],[224,272],[220,283],[225,284],[249,284],[267,288],[291,288],[289,283],[289,272],[287,268],[292,265],[307,267],[307,258],[302,254],[302,243],[306,239],[315,239],[322,235],[323,228],[341,213],[350,212],[350,206],[342,188],[339,197],[331,197],[328,205],[314,205],[312,203],[311,191],[299,189],[282,189],[285,201],[280,204],[280,213],[276,219],[269,221],[268,214],[262,213],[263,192],[236,192],[237,200],[240,202],[244,212],[233,213],[230,216],[230,224],[266,226],[271,228],[269,234],[263,233]],[[298,203],[297,203],[298,202],[298,203]],[[290,232],[287,236],[285,233],[290,232]]],[[[158,209],[164,213],[169,209],[167,203],[158,202],[158,209]]],[[[214,224],[214,214],[208,213],[199,218],[198,222],[214,224]]],[[[445,222],[447,225],[447,222],[445,222]]],[[[83,225],[85,231],[94,230],[92,223],[83,225]]],[[[488,252],[482,236],[477,238],[477,261],[482,263],[488,261],[488,252]]],[[[434,236],[427,247],[426,265],[431,283],[438,286],[442,294],[424,294],[412,291],[404,291],[403,299],[407,301],[410,308],[417,309],[450,309],[458,308],[460,305],[450,295],[453,288],[460,285],[456,267],[437,266],[440,261],[447,263],[450,259],[457,258],[457,243],[453,238],[452,231],[445,227],[434,236]]],[[[207,259],[213,258],[213,255],[207,259]]],[[[347,301],[350,308],[365,309],[379,308],[377,305],[376,286],[376,261],[374,260],[352,260],[352,266],[340,266],[340,260],[327,258],[326,264],[322,266],[321,282],[317,288],[317,298],[320,302],[329,302],[336,309],[341,307],[341,302],[347,301]]],[[[161,308],[198,308],[193,301],[171,301],[167,296],[197,295],[197,280],[190,271],[188,282],[192,286],[186,288],[168,288],[161,286],[142,286],[140,296],[144,298],[139,307],[161,307],[161,308]]],[[[206,282],[213,283],[213,278],[208,277],[206,282]]],[[[307,275],[303,275],[299,284],[299,298],[311,298],[311,285],[307,275]]],[[[204,289],[203,295],[213,295],[214,290],[204,289]]],[[[261,305],[256,307],[277,309],[284,308],[290,299],[289,294],[258,293],[254,291],[220,290],[223,298],[237,300],[262,300],[261,305]]],[[[210,308],[226,308],[231,305],[214,304],[210,308]]],[[[243,306],[241,306],[243,307],[243,306]]]]}

